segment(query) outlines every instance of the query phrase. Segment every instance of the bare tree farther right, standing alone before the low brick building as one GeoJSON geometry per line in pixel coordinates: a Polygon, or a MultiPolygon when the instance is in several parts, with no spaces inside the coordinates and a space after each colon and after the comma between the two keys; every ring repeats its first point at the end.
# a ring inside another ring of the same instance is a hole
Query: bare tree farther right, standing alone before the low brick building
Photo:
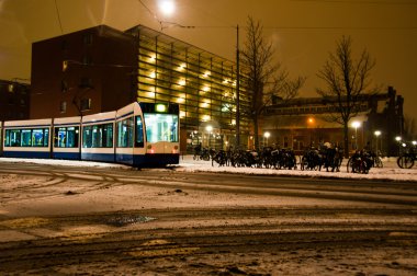
{"type": "Polygon", "coordinates": [[[333,105],[333,120],[343,127],[345,156],[349,156],[349,120],[358,115],[359,101],[367,93],[371,83],[370,72],[375,66],[367,49],[359,58],[352,58],[352,39],[342,36],[336,44],[336,53],[329,53],[329,58],[317,77],[325,81],[325,89],[317,93],[333,105]]]}

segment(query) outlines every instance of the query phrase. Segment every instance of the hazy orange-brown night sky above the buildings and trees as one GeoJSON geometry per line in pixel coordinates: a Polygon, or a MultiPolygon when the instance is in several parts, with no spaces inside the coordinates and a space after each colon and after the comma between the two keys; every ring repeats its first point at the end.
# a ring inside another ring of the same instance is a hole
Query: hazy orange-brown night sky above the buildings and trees
{"type": "MultiPolygon", "coordinates": [[[[173,1],[173,0],[172,0],[173,1]]],[[[353,49],[376,60],[373,84],[394,87],[405,114],[417,119],[417,0],[176,0],[171,15],[157,0],[0,0],[0,79],[30,79],[31,43],[106,24],[124,31],[143,24],[207,51],[235,59],[248,15],[260,20],[277,60],[307,77],[301,96],[316,96],[316,77],[336,41],[350,35],[353,49]],[[195,26],[183,28],[183,26],[195,26]]],[[[356,53],[353,53],[356,54],[356,53]]],[[[354,55],[357,56],[357,55],[354,55]]],[[[386,91],[386,90],[385,90],[386,91]]]]}

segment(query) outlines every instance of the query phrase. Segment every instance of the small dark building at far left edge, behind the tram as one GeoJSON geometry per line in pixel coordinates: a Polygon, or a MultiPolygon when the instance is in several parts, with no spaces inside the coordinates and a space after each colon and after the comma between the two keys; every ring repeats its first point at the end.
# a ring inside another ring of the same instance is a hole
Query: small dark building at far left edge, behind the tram
{"type": "Polygon", "coordinates": [[[30,108],[30,84],[0,80],[0,122],[26,119],[30,108]]]}

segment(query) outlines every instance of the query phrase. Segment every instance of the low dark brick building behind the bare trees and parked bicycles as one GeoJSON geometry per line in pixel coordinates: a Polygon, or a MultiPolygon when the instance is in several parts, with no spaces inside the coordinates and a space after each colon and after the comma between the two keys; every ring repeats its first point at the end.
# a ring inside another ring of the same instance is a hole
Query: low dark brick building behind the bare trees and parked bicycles
{"type": "MultiPolygon", "coordinates": [[[[268,142],[297,152],[324,142],[342,147],[342,125],[331,119],[335,107],[330,101],[323,97],[275,101],[268,106],[263,117],[268,142]]],[[[391,87],[386,93],[362,95],[358,101],[359,112],[349,123],[349,150],[370,147],[387,156],[397,156],[396,137],[404,135],[403,104],[403,96],[391,87]]],[[[263,141],[267,142],[266,138],[263,141]]]]}

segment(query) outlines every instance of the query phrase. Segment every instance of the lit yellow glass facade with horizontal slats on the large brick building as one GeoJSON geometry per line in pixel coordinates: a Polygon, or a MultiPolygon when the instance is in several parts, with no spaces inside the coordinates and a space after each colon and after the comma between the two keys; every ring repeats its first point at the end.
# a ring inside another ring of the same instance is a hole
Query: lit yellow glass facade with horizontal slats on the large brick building
{"type": "MultiPolygon", "coordinates": [[[[127,33],[136,37],[137,101],[178,103],[181,140],[187,140],[187,148],[200,142],[217,149],[234,145],[235,64],[145,26],[127,33]],[[205,130],[206,126],[213,128],[212,133],[205,130]]],[[[241,106],[250,103],[245,81],[241,76],[241,106]]],[[[239,123],[240,136],[248,136],[248,119],[243,117],[239,123]]]]}

